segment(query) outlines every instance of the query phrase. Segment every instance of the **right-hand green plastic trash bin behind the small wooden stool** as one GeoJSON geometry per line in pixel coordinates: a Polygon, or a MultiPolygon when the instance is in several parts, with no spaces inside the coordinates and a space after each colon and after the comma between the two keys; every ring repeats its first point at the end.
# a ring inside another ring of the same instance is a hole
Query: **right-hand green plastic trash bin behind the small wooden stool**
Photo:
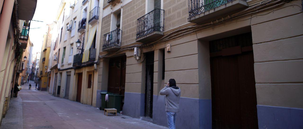
{"type": "Polygon", "coordinates": [[[120,112],[122,96],[123,95],[119,95],[119,94],[109,94],[107,108],[108,109],[114,108],[117,109],[117,112],[120,112]]]}

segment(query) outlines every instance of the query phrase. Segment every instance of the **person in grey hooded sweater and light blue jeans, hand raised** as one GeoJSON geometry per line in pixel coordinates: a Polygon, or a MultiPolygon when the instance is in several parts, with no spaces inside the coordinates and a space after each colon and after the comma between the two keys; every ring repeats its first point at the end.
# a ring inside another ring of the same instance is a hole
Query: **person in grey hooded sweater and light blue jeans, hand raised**
{"type": "Polygon", "coordinates": [[[165,111],[168,128],[175,129],[181,96],[181,89],[177,87],[175,79],[169,79],[167,85],[160,91],[160,95],[166,96],[165,111]]]}

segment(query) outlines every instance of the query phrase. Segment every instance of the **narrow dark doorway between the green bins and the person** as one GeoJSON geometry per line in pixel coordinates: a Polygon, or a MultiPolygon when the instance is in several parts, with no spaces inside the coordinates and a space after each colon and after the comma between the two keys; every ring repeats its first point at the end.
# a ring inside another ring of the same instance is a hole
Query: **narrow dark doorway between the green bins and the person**
{"type": "Polygon", "coordinates": [[[145,117],[152,118],[153,85],[154,85],[154,52],[145,54],[145,117]]]}

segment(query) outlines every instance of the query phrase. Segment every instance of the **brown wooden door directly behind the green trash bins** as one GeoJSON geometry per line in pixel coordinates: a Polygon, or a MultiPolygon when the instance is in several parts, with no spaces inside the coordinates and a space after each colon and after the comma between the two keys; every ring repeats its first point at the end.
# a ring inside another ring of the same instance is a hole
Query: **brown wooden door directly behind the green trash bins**
{"type": "Polygon", "coordinates": [[[126,57],[111,58],[109,61],[108,92],[124,95],[126,57]]]}

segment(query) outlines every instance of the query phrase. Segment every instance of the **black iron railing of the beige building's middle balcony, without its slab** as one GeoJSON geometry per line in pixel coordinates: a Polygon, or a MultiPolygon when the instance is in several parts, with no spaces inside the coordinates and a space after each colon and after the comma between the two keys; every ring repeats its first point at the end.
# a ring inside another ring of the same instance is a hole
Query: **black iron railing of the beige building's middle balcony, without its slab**
{"type": "Polygon", "coordinates": [[[164,10],[154,9],[137,19],[137,39],[155,31],[164,31],[164,10]]]}

